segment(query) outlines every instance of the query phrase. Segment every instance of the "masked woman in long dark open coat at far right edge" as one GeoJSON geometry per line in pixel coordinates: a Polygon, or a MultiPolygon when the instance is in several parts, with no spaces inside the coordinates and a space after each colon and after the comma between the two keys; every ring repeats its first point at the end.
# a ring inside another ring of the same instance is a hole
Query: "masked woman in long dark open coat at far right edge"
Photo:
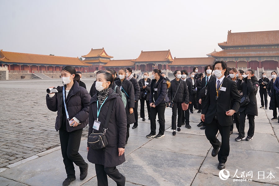
{"type": "Polygon", "coordinates": [[[273,83],[275,82],[276,78],[277,78],[277,72],[273,71],[271,73],[271,80],[268,82],[268,96],[270,97],[270,102],[269,102],[269,110],[273,110],[273,117],[271,118],[271,120],[277,120],[277,108],[278,108],[278,104],[276,101],[276,91],[273,88],[273,83]]]}

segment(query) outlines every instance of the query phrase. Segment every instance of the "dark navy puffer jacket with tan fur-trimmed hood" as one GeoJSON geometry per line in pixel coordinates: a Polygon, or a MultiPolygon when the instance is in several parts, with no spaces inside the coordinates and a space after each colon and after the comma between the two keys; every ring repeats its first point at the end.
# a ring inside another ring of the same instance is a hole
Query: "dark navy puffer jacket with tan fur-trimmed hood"
{"type": "Polygon", "coordinates": [[[156,79],[153,79],[151,82],[149,103],[154,103],[155,106],[158,106],[160,103],[168,103],[170,101],[167,94],[169,86],[167,85],[166,78],[163,76],[160,76],[157,83],[156,81],[156,79]]]}

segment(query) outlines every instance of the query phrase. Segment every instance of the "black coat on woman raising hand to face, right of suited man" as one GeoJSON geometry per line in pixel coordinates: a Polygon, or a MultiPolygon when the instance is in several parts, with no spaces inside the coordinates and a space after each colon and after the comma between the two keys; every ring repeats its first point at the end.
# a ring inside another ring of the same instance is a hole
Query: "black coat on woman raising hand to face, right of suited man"
{"type": "Polygon", "coordinates": [[[237,80],[237,89],[242,90],[243,95],[249,95],[250,103],[244,107],[239,108],[239,112],[244,112],[245,114],[250,114],[258,116],[258,107],[257,107],[257,92],[259,88],[258,79],[255,76],[252,76],[251,79],[244,78],[244,82],[241,83],[241,80],[237,80]]]}

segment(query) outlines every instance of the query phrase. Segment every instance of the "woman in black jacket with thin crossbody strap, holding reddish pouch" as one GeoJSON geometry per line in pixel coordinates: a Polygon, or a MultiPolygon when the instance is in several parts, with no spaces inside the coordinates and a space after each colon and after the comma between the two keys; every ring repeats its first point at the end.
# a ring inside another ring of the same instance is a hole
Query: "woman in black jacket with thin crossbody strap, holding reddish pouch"
{"type": "Polygon", "coordinates": [[[176,115],[178,114],[177,131],[180,131],[182,125],[183,110],[182,105],[188,107],[189,105],[189,92],[186,82],[181,79],[181,72],[175,70],[173,73],[175,79],[170,81],[170,88],[168,90],[168,97],[170,104],[172,104],[172,116],[171,116],[171,129],[172,135],[176,134],[176,115]]]}

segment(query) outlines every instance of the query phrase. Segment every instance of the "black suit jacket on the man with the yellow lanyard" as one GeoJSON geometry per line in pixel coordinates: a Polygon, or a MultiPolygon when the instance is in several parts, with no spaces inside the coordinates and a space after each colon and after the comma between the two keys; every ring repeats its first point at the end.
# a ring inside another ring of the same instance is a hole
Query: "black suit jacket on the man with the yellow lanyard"
{"type": "Polygon", "coordinates": [[[238,94],[237,85],[234,81],[224,78],[222,87],[226,87],[226,91],[219,91],[219,97],[216,100],[216,81],[210,81],[207,85],[207,94],[202,101],[201,114],[205,114],[205,123],[211,123],[215,113],[217,113],[218,121],[221,126],[232,125],[232,117],[226,115],[226,111],[232,109],[238,111],[240,106],[240,96],[238,94]],[[231,107],[231,101],[233,103],[231,107]]]}

